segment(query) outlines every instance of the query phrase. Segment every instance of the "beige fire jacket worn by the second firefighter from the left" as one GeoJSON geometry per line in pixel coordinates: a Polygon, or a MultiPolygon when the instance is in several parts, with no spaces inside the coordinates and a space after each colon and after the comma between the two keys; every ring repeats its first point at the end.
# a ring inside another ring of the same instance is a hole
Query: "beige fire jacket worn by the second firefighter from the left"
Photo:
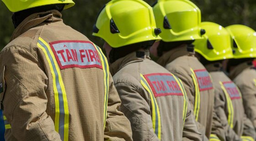
{"type": "Polygon", "coordinates": [[[202,140],[181,82],[150,60],[149,50],[118,59],[110,72],[134,141],[202,140]]]}

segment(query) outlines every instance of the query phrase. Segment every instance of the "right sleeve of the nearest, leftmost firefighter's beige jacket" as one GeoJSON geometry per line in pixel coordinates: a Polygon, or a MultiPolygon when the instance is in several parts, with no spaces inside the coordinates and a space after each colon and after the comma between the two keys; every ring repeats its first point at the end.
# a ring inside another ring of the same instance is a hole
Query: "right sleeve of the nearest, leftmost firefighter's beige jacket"
{"type": "Polygon", "coordinates": [[[109,81],[110,89],[108,93],[104,141],[133,141],[131,124],[120,111],[121,100],[111,75],[109,81]]]}

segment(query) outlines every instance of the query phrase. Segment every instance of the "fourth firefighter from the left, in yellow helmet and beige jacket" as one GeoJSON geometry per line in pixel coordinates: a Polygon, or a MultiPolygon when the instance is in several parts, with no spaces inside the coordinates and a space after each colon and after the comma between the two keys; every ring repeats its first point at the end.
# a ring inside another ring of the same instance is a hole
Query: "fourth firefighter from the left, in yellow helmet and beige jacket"
{"type": "Polygon", "coordinates": [[[202,22],[201,27],[206,30],[206,34],[193,44],[199,60],[212,76],[215,88],[214,109],[224,126],[225,139],[254,141],[256,133],[245,115],[240,90],[222,70],[223,60],[233,58],[230,35],[216,23],[202,22]]]}

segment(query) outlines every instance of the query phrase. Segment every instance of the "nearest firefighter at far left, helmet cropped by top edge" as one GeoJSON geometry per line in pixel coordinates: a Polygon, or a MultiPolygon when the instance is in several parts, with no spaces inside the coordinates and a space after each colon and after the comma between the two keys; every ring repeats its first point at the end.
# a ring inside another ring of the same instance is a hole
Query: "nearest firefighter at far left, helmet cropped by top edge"
{"type": "Polygon", "coordinates": [[[132,141],[107,59],[61,19],[73,1],[4,2],[17,26],[0,54],[5,140],[132,141]]]}

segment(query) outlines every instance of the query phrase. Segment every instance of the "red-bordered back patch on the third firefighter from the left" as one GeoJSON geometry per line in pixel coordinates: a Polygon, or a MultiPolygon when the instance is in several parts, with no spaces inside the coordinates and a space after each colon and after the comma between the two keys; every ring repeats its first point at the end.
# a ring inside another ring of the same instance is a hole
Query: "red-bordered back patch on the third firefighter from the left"
{"type": "Polygon", "coordinates": [[[206,91],[213,89],[212,79],[205,69],[194,71],[197,77],[197,83],[199,85],[199,91],[206,91]]]}

